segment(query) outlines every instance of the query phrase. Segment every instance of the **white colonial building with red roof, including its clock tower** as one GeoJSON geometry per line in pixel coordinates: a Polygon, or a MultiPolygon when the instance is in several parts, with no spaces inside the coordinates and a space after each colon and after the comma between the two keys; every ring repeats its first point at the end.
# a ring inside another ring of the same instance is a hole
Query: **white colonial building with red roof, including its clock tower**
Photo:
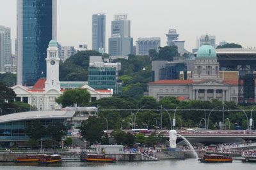
{"type": "MultiPolygon", "coordinates": [[[[38,80],[35,85],[29,89],[22,85],[15,85],[12,87],[17,95],[17,101],[31,104],[38,110],[57,110],[61,106],[55,102],[56,97],[59,97],[65,89],[61,89],[59,81],[59,64],[60,57],[58,56],[58,45],[55,40],[51,40],[47,49],[47,77],[46,79],[38,80]]],[[[113,89],[108,90],[94,90],[88,85],[83,85],[91,94],[91,100],[98,100],[102,97],[113,96],[113,89]]]]}

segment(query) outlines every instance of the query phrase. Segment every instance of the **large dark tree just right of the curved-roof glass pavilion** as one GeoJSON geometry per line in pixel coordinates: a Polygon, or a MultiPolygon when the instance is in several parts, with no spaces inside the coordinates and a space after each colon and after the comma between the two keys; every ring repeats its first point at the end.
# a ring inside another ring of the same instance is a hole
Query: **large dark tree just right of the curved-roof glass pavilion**
{"type": "Polygon", "coordinates": [[[100,117],[89,117],[87,120],[82,122],[80,127],[81,136],[87,141],[93,143],[100,143],[104,134],[104,120],[100,117]]]}

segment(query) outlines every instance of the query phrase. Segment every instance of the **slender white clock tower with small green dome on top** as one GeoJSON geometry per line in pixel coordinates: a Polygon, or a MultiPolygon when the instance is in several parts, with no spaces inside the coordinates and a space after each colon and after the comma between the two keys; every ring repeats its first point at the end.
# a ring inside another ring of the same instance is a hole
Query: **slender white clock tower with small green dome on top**
{"type": "Polygon", "coordinates": [[[51,89],[58,90],[60,92],[60,80],[59,80],[59,50],[57,42],[52,39],[47,48],[46,67],[46,81],[45,81],[45,92],[51,89]]]}

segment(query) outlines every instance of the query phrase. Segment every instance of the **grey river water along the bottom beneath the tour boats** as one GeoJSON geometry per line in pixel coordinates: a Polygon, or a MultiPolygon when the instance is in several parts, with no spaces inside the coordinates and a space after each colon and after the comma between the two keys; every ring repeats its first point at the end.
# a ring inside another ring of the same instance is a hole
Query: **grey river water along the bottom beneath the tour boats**
{"type": "Polygon", "coordinates": [[[241,160],[233,160],[232,163],[200,163],[196,159],[185,160],[161,160],[156,162],[117,162],[115,164],[105,163],[86,163],[86,162],[61,162],[51,165],[36,164],[15,164],[14,162],[1,162],[1,170],[51,170],[51,169],[86,169],[86,170],[222,170],[222,169],[255,169],[256,163],[242,162],[241,160]]]}

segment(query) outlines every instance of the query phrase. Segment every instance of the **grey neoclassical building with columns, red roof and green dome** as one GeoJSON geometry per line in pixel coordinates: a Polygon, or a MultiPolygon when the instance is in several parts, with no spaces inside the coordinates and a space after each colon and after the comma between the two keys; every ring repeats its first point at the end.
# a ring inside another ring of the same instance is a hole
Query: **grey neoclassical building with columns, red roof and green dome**
{"type": "Polygon", "coordinates": [[[161,100],[166,96],[179,99],[211,101],[238,101],[238,80],[220,78],[220,64],[216,50],[205,37],[205,44],[196,54],[195,69],[190,80],[160,80],[148,83],[148,96],[161,100]]]}

